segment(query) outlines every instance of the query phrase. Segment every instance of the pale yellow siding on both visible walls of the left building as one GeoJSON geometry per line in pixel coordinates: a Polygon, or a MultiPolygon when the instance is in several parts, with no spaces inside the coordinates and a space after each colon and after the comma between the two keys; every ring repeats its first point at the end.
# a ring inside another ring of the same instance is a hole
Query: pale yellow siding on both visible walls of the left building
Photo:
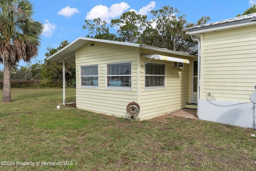
{"type": "MultiPolygon", "coordinates": [[[[126,112],[128,103],[135,101],[140,105],[140,113],[136,118],[150,119],[167,112],[186,106],[190,93],[190,65],[184,64],[184,69],[174,68],[174,62],[151,60],[154,63],[166,64],[166,87],[163,89],[145,89],[144,58],[140,54],[159,54],[154,50],[141,50],[137,47],[113,45],[93,42],[94,46],[85,46],[76,51],[76,98],[77,107],[104,113],[130,117],[126,112]],[[142,51],[142,52],[141,52],[142,51]],[[107,89],[106,64],[132,62],[132,89],[107,89]],[[98,65],[98,87],[80,87],[80,67],[98,65]],[[141,66],[142,65],[142,66],[141,66]]],[[[170,56],[167,53],[162,55],[170,56]]],[[[172,55],[176,58],[188,57],[172,55]]]]}

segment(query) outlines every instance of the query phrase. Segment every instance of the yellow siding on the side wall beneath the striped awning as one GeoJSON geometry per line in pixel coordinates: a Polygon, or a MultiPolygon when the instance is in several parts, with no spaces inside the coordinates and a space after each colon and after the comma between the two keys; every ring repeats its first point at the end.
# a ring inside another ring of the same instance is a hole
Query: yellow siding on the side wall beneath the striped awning
{"type": "MultiPolygon", "coordinates": [[[[154,52],[141,52],[142,54],[154,54],[154,52]]],[[[156,53],[156,52],[155,52],[156,53]]],[[[158,52],[159,53],[159,52],[158,52]]],[[[168,56],[168,54],[162,54],[168,56]]],[[[176,58],[189,59],[184,56],[176,58]]],[[[184,69],[174,68],[174,62],[150,60],[152,63],[166,64],[166,88],[145,89],[144,63],[149,58],[140,58],[140,119],[150,119],[165,113],[186,107],[189,102],[189,64],[184,64],[184,69]]]]}

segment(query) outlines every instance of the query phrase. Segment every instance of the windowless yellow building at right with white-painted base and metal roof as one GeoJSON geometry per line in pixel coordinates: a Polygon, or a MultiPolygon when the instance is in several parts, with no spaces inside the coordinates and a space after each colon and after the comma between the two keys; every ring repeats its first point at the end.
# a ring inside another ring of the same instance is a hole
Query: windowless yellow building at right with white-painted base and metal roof
{"type": "Polygon", "coordinates": [[[186,29],[198,41],[198,118],[255,127],[256,13],[186,29]]]}

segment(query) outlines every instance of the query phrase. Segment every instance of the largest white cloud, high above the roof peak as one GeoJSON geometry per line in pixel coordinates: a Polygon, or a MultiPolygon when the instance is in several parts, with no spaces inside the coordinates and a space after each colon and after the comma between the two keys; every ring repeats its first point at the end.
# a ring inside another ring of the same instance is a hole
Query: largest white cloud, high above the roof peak
{"type": "Polygon", "coordinates": [[[130,8],[130,6],[125,2],[113,4],[110,8],[103,5],[97,5],[87,13],[86,19],[93,20],[95,18],[100,18],[100,20],[109,23],[111,19],[120,16],[128,8],[130,8]]]}

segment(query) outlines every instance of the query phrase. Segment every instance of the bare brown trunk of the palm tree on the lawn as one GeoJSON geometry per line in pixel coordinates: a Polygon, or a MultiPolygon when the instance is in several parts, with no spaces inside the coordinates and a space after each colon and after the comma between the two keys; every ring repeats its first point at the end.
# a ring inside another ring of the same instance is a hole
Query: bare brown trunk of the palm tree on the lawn
{"type": "Polygon", "coordinates": [[[7,103],[11,101],[11,68],[4,62],[4,86],[2,102],[7,103]]]}

